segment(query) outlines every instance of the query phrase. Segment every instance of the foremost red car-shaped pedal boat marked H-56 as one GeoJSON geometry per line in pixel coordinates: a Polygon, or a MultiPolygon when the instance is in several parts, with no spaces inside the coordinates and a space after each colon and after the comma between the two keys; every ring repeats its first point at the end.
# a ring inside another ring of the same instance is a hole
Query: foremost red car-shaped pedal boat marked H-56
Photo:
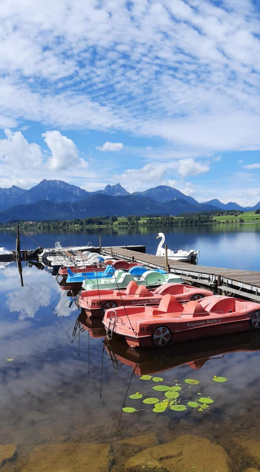
{"type": "Polygon", "coordinates": [[[117,333],[131,347],[163,347],[203,337],[260,329],[260,303],[213,295],[184,305],[164,295],[159,306],[106,310],[108,338],[117,333]]]}

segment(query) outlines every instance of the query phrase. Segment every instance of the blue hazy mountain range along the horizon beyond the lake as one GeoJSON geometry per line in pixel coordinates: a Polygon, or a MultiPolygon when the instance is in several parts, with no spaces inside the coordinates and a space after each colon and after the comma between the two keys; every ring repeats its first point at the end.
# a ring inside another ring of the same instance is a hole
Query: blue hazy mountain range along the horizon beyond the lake
{"type": "Polygon", "coordinates": [[[48,220],[73,219],[102,215],[178,215],[182,212],[208,210],[257,210],[243,208],[235,202],[219,200],[197,202],[167,185],[158,185],[143,192],[130,194],[119,183],[103,190],[88,192],[61,180],[42,180],[29,190],[16,185],[0,188],[0,222],[11,219],[48,220]]]}

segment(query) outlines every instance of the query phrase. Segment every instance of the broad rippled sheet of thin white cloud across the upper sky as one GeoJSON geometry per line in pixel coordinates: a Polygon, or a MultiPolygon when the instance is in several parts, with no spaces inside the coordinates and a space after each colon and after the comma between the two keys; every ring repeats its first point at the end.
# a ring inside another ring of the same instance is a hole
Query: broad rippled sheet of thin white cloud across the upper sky
{"type": "Polygon", "coordinates": [[[33,0],[3,0],[0,20],[5,126],[30,119],[210,151],[260,148],[260,19],[250,1],[48,0],[35,11],[33,0]]]}

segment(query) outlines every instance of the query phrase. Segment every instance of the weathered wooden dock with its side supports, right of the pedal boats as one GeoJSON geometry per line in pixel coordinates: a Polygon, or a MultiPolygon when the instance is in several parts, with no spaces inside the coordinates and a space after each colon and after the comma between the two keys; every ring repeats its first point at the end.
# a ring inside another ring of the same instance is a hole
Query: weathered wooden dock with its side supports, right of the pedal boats
{"type": "MultiPolygon", "coordinates": [[[[102,248],[105,255],[111,254],[111,248],[102,248]]],[[[153,254],[140,254],[124,248],[112,248],[113,256],[117,259],[143,263],[151,269],[165,269],[165,257],[153,254]]],[[[193,265],[187,262],[171,261],[168,259],[168,271],[180,275],[188,283],[199,287],[211,287],[213,291],[250,298],[260,302],[260,272],[252,270],[223,269],[193,265]]]]}

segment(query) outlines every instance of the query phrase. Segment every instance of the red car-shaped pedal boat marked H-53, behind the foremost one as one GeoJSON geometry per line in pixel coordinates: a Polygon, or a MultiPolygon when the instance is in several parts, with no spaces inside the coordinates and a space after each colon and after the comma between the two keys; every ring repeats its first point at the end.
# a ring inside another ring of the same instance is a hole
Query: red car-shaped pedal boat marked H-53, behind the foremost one
{"type": "Polygon", "coordinates": [[[154,290],[148,290],[136,282],[129,282],[126,290],[88,290],[81,292],[79,306],[88,316],[103,317],[106,310],[117,306],[159,305],[163,295],[174,295],[180,303],[199,300],[213,295],[210,290],[192,287],[185,284],[163,284],[154,290]]]}

